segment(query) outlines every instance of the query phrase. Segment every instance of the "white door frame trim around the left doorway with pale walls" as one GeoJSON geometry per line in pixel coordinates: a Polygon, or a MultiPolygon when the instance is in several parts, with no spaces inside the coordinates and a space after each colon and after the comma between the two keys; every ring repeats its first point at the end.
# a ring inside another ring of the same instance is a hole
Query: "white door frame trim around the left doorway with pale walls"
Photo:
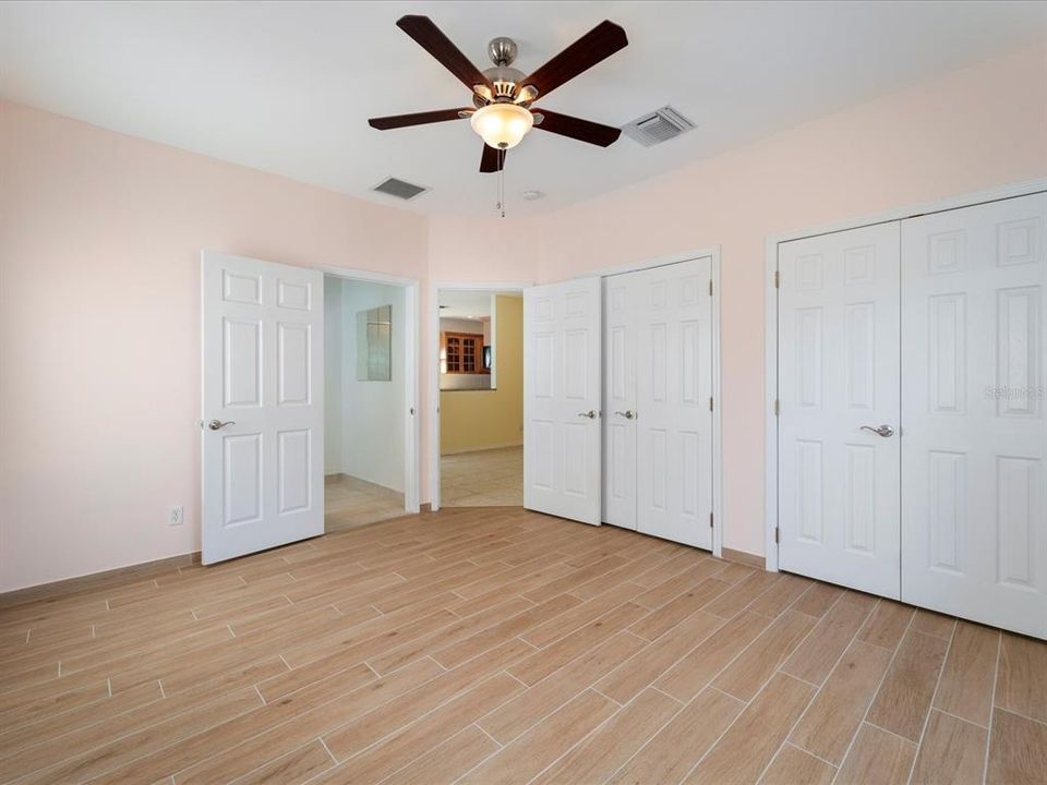
{"type": "MultiPolygon", "coordinates": [[[[418,278],[373,273],[371,270],[317,265],[314,269],[335,278],[356,280],[363,283],[383,283],[404,289],[404,510],[417,514],[421,510],[421,426],[419,418],[419,324],[421,304],[419,300],[418,278]]],[[[326,401],[324,402],[326,406],[326,401]]],[[[326,416],[326,411],[325,411],[326,416]]]]}

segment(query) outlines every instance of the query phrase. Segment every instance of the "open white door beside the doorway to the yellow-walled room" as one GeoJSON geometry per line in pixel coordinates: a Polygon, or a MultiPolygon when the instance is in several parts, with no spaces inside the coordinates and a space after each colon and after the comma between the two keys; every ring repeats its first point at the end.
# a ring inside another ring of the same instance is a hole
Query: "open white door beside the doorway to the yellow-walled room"
{"type": "Polygon", "coordinates": [[[524,290],[524,506],[599,526],[600,279],[524,290]]]}

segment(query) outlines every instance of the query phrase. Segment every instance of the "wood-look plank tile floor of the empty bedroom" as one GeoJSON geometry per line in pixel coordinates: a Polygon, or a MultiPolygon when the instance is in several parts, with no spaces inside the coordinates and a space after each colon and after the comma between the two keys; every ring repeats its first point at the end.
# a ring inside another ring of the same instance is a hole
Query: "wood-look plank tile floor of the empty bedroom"
{"type": "Polygon", "coordinates": [[[460,509],[0,597],[5,783],[1043,783],[1047,644],[460,509]]]}

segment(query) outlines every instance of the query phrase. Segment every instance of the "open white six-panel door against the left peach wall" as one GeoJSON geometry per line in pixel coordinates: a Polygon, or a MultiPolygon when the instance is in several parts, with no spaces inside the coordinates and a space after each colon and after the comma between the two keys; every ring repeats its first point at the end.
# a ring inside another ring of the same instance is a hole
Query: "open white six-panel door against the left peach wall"
{"type": "Polygon", "coordinates": [[[205,251],[203,563],[324,532],[324,285],[205,251]]]}

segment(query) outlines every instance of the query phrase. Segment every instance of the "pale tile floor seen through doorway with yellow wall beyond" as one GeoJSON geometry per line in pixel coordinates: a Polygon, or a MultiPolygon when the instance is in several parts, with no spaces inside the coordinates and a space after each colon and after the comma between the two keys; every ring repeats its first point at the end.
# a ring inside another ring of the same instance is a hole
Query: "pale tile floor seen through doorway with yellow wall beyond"
{"type": "Polygon", "coordinates": [[[442,456],[440,475],[444,507],[524,505],[524,447],[442,456]]]}

